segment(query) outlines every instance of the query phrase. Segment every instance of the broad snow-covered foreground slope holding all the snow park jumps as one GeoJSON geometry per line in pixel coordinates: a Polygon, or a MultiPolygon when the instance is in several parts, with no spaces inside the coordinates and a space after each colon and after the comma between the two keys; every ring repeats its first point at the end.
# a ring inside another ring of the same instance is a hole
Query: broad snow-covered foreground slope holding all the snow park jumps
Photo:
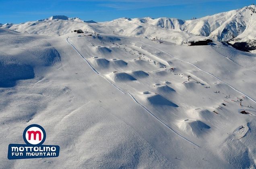
{"type": "Polygon", "coordinates": [[[219,42],[0,28],[0,166],[255,168],[255,58],[219,42]],[[6,158],[29,124],[45,128],[59,157],[6,158]]]}

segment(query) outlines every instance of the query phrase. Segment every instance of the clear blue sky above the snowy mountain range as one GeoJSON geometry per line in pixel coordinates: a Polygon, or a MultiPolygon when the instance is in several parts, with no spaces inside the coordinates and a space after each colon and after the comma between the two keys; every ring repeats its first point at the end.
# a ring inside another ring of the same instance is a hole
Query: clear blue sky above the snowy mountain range
{"type": "Polygon", "coordinates": [[[0,0],[0,23],[66,15],[96,22],[121,17],[190,19],[242,8],[255,0],[0,0]]]}

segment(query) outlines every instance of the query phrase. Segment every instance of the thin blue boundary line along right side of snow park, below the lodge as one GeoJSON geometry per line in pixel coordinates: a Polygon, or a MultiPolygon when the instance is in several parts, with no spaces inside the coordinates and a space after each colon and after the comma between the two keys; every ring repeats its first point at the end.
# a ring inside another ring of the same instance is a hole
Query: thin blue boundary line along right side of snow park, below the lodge
{"type": "MultiPolygon", "coordinates": [[[[141,42],[142,42],[142,41],[141,41],[141,42]]],[[[145,45],[149,45],[149,44],[147,44],[147,43],[145,43],[145,42],[142,42],[142,43],[144,43],[145,45]]],[[[153,45],[149,45],[149,46],[154,47],[153,45]]],[[[185,60],[183,60],[183,59],[180,59],[180,58],[178,58],[178,57],[175,57],[175,56],[169,54],[168,52],[165,52],[165,51],[163,51],[162,49],[159,49],[158,47],[154,47],[154,48],[155,48],[155,49],[158,49],[158,50],[160,50],[160,51],[162,51],[162,52],[164,52],[164,53],[166,53],[167,55],[169,55],[169,56],[171,56],[171,57],[173,57],[173,58],[175,58],[175,59],[178,59],[178,60],[180,60],[180,61],[184,61],[184,62],[186,62],[186,63],[188,63],[188,64],[190,64],[190,65],[193,65],[194,67],[196,67],[196,68],[199,69],[200,71],[203,71],[204,73],[207,73],[207,74],[211,75],[211,76],[214,77],[215,79],[218,79],[219,81],[225,83],[227,86],[229,86],[229,87],[232,88],[233,90],[239,92],[240,94],[243,94],[244,96],[246,96],[246,97],[248,97],[250,100],[252,100],[254,103],[256,103],[256,101],[255,101],[253,98],[251,98],[250,96],[244,94],[243,92],[240,92],[239,90],[237,90],[237,89],[234,88],[233,86],[229,85],[229,84],[226,83],[225,81],[219,79],[219,77],[216,77],[215,75],[213,75],[213,74],[211,74],[211,73],[209,73],[209,72],[207,72],[207,71],[204,71],[203,69],[200,69],[199,67],[197,67],[197,66],[194,65],[193,63],[190,63],[190,62],[188,62],[188,61],[185,61],[185,60]]]]}

